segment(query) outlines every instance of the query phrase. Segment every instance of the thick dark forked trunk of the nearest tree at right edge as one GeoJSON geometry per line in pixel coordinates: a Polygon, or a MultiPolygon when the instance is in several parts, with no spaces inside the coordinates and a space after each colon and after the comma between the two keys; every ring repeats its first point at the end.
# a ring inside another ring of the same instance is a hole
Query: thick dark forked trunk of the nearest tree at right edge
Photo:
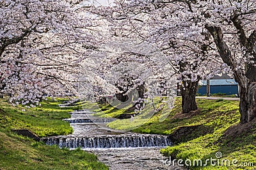
{"type": "MultiPolygon", "coordinates": [[[[246,49],[248,54],[253,54],[253,61],[256,61],[256,52],[253,50],[256,40],[256,30],[247,38],[239,15],[232,17],[232,22],[239,33],[239,43],[246,49]]],[[[214,42],[218,47],[218,52],[224,63],[226,63],[234,72],[234,77],[239,83],[240,104],[239,112],[241,114],[240,123],[248,123],[256,117],[256,66],[254,63],[246,63],[245,74],[241,70],[236,69],[237,64],[234,62],[232,53],[228,48],[227,43],[223,40],[221,27],[205,26],[214,38],[214,42]]],[[[246,57],[246,55],[244,56],[246,57]]]]}

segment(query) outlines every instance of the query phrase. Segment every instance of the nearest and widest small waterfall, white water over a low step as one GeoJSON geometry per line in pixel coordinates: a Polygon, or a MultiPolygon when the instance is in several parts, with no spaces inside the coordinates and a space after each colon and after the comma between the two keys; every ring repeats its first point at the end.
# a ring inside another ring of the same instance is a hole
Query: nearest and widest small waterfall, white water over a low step
{"type": "Polygon", "coordinates": [[[170,137],[164,135],[101,135],[95,137],[44,137],[42,142],[60,148],[129,148],[170,146],[170,137]]]}

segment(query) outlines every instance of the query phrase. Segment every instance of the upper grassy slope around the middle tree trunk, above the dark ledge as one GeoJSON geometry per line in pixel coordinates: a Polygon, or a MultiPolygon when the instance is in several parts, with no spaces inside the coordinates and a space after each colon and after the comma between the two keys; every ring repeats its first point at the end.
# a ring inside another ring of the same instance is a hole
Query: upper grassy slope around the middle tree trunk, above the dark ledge
{"type": "MultiPolygon", "coordinates": [[[[195,116],[187,118],[188,116],[180,114],[182,111],[181,101],[178,98],[175,101],[175,107],[163,122],[159,122],[162,112],[157,112],[155,116],[150,118],[143,126],[136,128],[134,132],[140,133],[146,129],[150,134],[170,135],[181,126],[204,125],[204,128],[212,130],[225,125],[226,121],[232,124],[239,120],[238,102],[228,100],[197,100],[197,104],[200,112],[196,113],[195,116]],[[180,114],[181,118],[179,116],[175,117],[177,113],[180,114]]],[[[200,132],[198,133],[200,134],[200,132]]]]}

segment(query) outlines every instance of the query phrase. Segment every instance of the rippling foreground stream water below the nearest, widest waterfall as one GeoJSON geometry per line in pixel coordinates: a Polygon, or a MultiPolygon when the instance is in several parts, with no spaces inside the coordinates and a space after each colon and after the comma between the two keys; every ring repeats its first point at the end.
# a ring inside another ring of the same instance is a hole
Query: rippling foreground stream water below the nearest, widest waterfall
{"type": "Polygon", "coordinates": [[[160,153],[160,148],[118,148],[102,150],[86,150],[99,157],[111,170],[149,170],[149,169],[180,169],[179,166],[164,164],[166,157],[160,153]]]}

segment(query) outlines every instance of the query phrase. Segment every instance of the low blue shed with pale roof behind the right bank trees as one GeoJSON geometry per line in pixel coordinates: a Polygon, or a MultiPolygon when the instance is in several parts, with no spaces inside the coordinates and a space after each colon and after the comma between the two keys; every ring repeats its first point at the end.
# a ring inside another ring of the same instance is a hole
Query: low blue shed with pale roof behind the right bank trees
{"type": "MultiPolygon", "coordinates": [[[[238,84],[234,79],[212,79],[210,80],[210,93],[223,93],[226,95],[238,94],[238,84]]],[[[207,82],[200,81],[199,95],[207,94],[207,82]]]]}

